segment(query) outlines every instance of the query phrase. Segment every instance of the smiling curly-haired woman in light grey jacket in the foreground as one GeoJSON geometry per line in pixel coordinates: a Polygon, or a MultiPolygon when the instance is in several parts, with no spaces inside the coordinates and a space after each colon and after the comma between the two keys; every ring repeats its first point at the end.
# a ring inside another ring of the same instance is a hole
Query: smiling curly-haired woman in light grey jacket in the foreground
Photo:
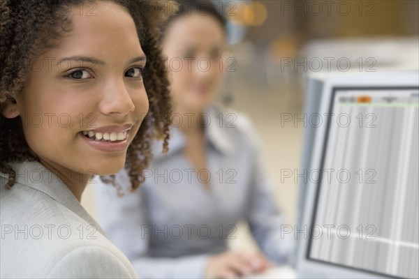
{"type": "Polygon", "coordinates": [[[165,2],[0,1],[1,278],[137,277],[80,198],[168,149],[165,2]]]}

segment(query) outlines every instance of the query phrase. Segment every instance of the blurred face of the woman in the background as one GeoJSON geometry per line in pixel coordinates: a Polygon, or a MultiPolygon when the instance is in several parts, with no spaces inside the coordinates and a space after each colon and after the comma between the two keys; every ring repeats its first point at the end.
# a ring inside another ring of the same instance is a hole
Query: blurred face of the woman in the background
{"type": "Polygon", "coordinates": [[[226,61],[224,30],[210,15],[193,13],[172,22],[163,40],[175,105],[203,110],[219,88],[226,61]]]}

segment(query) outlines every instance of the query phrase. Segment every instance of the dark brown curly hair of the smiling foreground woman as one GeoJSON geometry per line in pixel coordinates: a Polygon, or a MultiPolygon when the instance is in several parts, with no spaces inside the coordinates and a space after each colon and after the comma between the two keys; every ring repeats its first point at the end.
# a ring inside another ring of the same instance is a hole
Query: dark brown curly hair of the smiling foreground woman
{"type": "MultiPolygon", "coordinates": [[[[149,98],[149,112],[133,138],[126,153],[125,169],[131,180],[131,191],[144,181],[142,174],[152,160],[152,141],[163,140],[163,153],[168,151],[170,126],[169,82],[159,46],[162,24],[177,5],[170,0],[108,0],[119,3],[133,17],[142,50],[147,56],[143,74],[149,98]],[[168,3],[170,9],[168,9],[168,3]],[[166,7],[166,8],[165,8],[166,7]]],[[[54,43],[71,23],[68,11],[92,3],[87,0],[1,0],[0,1],[0,172],[8,174],[6,188],[15,183],[15,171],[7,165],[12,162],[39,159],[30,151],[24,139],[20,116],[3,116],[6,102],[15,102],[15,96],[24,88],[29,70],[27,61],[34,61],[54,43]]],[[[103,181],[121,188],[115,175],[101,177],[103,181]]]]}

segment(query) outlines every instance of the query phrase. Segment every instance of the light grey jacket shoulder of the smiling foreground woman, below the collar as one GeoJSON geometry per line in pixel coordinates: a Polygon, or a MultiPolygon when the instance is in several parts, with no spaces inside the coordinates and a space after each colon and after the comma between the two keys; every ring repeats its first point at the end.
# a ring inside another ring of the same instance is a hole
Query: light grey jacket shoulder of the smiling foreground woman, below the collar
{"type": "Polygon", "coordinates": [[[135,278],[128,259],[89,223],[49,195],[0,176],[1,278],[135,278]]]}

